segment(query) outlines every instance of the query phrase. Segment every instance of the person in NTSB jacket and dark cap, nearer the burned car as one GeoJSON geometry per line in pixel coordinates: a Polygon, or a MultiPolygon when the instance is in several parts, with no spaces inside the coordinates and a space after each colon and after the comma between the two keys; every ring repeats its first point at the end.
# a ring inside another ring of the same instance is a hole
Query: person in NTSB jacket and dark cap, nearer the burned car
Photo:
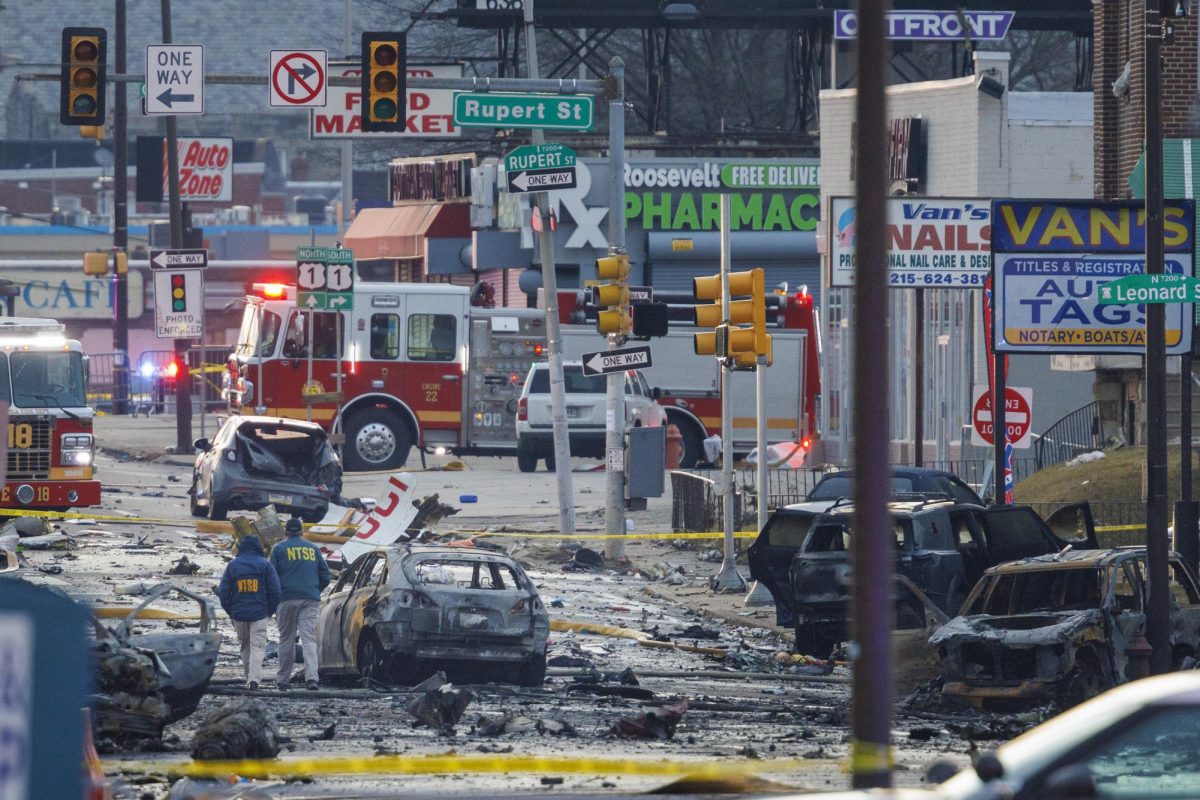
{"type": "Polygon", "coordinates": [[[305,684],[311,690],[317,682],[317,612],[320,608],[320,591],[329,585],[329,565],[320,549],[304,539],[304,525],[299,517],[288,519],[288,537],[271,548],[271,565],[280,573],[283,602],[280,603],[275,622],[280,626],[280,670],[275,673],[275,685],[286,692],[292,681],[292,667],[296,657],[296,631],[304,654],[305,684]]]}

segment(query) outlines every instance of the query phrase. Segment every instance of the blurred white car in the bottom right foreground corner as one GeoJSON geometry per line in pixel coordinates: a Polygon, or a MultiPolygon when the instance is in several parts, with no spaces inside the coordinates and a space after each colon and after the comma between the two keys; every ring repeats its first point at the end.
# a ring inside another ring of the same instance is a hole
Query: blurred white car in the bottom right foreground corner
{"type": "Polygon", "coordinates": [[[1195,798],[1200,672],[1145,678],[1046,720],[928,789],[779,800],[1099,800],[1195,798]]]}

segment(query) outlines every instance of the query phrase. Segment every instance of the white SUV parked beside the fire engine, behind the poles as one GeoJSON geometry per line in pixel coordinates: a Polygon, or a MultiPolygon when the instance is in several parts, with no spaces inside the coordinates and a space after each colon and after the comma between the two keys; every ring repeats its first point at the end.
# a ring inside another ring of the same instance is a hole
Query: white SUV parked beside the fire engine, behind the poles
{"type": "MultiPolygon", "coordinates": [[[[566,389],[566,428],[571,455],[604,458],[605,414],[608,409],[608,379],[606,375],[586,375],[583,365],[568,361],[563,365],[566,389]]],[[[665,425],[666,411],[654,399],[646,378],[636,369],[625,373],[625,425],[665,425]]],[[[529,367],[524,389],[517,401],[517,467],[522,473],[538,469],[538,459],[546,461],[546,469],[554,470],[554,426],[550,403],[550,365],[539,362],[529,367]]]]}

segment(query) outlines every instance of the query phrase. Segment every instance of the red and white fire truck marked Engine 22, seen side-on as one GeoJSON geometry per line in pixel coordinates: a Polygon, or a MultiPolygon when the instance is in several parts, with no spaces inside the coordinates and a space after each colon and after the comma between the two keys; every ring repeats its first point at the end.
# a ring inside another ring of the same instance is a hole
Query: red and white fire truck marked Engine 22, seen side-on
{"type": "MultiPolygon", "coordinates": [[[[348,470],[400,468],[414,446],[515,456],[523,381],[545,357],[545,312],[484,307],[481,285],[356,282],[350,309],[308,311],[296,307],[293,285],[254,284],[223,377],[229,410],[319,422],[343,444],[348,470]]],[[[605,348],[583,297],[559,296],[568,357],[605,348]]],[[[672,308],[680,323],[685,305],[672,308]]],[[[811,297],[776,297],[769,319],[769,438],[800,441],[816,429],[821,389],[811,297]]],[[[646,373],[679,426],[685,465],[720,433],[716,362],[694,354],[692,331],[679,324],[654,339],[646,373]]],[[[752,373],[734,389],[734,450],[745,452],[755,440],[752,373]]]]}

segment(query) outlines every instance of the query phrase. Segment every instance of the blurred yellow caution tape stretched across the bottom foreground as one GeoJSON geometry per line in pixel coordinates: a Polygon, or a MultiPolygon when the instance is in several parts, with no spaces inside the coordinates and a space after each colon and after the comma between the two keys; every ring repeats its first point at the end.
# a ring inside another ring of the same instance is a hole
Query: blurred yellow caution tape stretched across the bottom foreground
{"type": "MultiPolygon", "coordinates": [[[[839,764],[833,758],[730,759],[677,762],[670,759],[581,758],[578,756],[338,756],[330,758],[247,759],[236,762],[188,762],[170,764],[148,762],[148,771],[179,772],[188,777],[224,778],[229,775],[266,778],[283,775],[496,775],[529,772],[536,775],[635,775],[647,777],[690,776],[722,778],[758,772],[786,772],[811,766],[839,764]]],[[[122,762],[130,771],[136,764],[122,762]]]]}

